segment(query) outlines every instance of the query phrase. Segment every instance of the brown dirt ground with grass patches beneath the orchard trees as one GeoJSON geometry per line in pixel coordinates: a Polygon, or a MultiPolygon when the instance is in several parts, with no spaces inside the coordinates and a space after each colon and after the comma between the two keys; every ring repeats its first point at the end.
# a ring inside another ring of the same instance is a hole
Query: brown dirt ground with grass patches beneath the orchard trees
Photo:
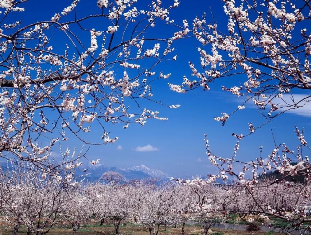
{"type": "MultiPolygon", "coordinates": [[[[212,235],[213,232],[221,232],[224,235],[264,235],[265,232],[249,232],[249,231],[236,231],[236,230],[221,230],[218,228],[211,228],[209,235],[212,235]]],[[[21,228],[19,234],[25,234],[26,229],[21,228]]],[[[198,226],[186,226],[185,228],[186,235],[204,235],[204,231],[201,227],[198,226]]],[[[0,235],[11,235],[12,230],[0,228],[0,235]]],[[[56,227],[50,230],[48,235],[71,235],[73,234],[72,229],[66,227],[56,227]]],[[[102,227],[84,227],[78,230],[77,235],[112,235],[114,234],[114,227],[104,225],[102,227]]],[[[149,232],[144,227],[132,227],[132,226],[122,226],[120,227],[121,235],[149,235],[149,232]]],[[[181,235],[181,226],[178,228],[167,228],[166,231],[163,229],[159,232],[158,235],[181,235]]],[[[274,235],[281,235],[281,233],[274,233],[274,235]]]]}

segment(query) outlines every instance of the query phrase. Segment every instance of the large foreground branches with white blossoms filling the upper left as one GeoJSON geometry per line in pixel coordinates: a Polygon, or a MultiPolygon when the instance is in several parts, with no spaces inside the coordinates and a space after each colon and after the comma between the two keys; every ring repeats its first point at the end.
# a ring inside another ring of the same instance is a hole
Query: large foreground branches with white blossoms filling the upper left
{"type": "Polygon", "coordinates": [[[179,2],[144,6],[137,0],[94,0],[87,4],[97,4],[97,11],[82,15],[77,14],[79,4],[73,0],[37,21],[19,16],[29,10],[24,1],[1,2],[2,157],[10,152],[49,168],[55,142],[77,137],[89,143],[81,133],[90,132],[92,122],[102,130],[97,144],[105,144],[118,140],[109,136],[107,123],[127,128],[131,123],[143,126],[149,118],[165,119],[140,106],[139,99],[152,100],[151,82],[169,77],[154,68],[176,59],[169,55],[172,36],[154,38],[148,32],[165,27],[161,21],[179,2]],[[42,144],[44,138],[48,145],[42,144]]]}

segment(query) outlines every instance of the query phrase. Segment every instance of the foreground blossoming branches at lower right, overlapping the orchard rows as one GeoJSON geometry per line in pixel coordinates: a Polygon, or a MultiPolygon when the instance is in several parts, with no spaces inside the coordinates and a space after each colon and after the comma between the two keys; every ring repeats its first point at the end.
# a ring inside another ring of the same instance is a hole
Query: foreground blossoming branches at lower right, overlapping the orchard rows
{"type": "MultiPolygon", "coordinates": [[[[205,185],[215,184],[215,180],[220,178],[223,180],[232,176],[234,180],[233,185],[222,185],[222,187],[229,187],[229,198],[233,202],[230,205],[221,208],[224,212],[232,211],[238,213],[241,218],[247,218],[252,214],[257,214],[264,220],[264,224],[270,225],[269,217],[277,217],[282,220],[290,222],[289,230],[310,230],[310,218],[307,217],[306,208],[310,201],[310,164],[307,156],[302,156],[302,149],[306,141],[299,134],[300,131],[296,129],[299,141],[303,139],[304,144],[298,146],[297,152],[290,150],[285,144],[283,149],[281,146],[276,146],[276,149],[268,156],[266,160],[260,156],[256,160],[244,162],[237,159],[237,151],[239,145],[234,147],[234,154],[231,158],[223,158],[214,155],[206,140],[206,149],[209,160],[218,168],[219,173],[209,175],[207,180],[180,180],[180,183],[185,185],[195,185],[199,188],[204,188],[205,185]],[[281,151],[282,155],[279,155],[281,151]],[[235,166],[235,167],[234,167],[235,166]],[[240,173],[236,173],[237,166],[243,166],[240,173]],[[281,179],[259,180],[264,177],[269,170],[276,170],[282,177],[281,179]],[[247,177],[251,175],[251,177],[247,177]],[[294,183],[293,177],[302,176],[304,181],[302,183],[294,183]]],[[[262,147],[261,147],[262,148],[262,147]]],[[[218,184],[216,184],[218,185],[218,184]]],[[[226,188],[223,188],[226,190],[226,188]]],[[[206,195],[205,200],[211,202],[213,195],[206,195]]],[[[220,202],[220,204],[223,204],[220,202]]],[[[209,209],[209,204],[205,202],[198,202],[197,209],[203,212],[209,209]]],[[[253,218],[249,218],[253,222],[253,218]]]]}

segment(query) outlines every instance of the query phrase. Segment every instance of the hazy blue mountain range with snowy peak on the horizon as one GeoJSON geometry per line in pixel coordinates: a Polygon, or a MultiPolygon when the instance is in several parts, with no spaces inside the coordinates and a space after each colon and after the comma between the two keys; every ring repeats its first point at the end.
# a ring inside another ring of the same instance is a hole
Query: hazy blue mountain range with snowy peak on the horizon
{"type": "Polygon", "coordinates": [[[87,180],[93,181],[98,180],[103,173],[107,171],[115,171],[124,175],[126,180],[143,180],[150,178],[157,178],[159,180],[168,180],[170,175],[162,172],[161,170],[151,169],[145,165],[133,166],[129,168],[117,168],[109,167],[105,164],[97,164],[89,166],[89,175],[86,177],[87,180]]]}

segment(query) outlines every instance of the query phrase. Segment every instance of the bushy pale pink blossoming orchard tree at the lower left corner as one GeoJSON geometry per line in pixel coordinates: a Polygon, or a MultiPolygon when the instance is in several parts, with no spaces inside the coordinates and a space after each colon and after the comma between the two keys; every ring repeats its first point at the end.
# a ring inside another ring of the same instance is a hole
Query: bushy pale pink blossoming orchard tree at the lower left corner
{"type": "Polygon", "coordinates": [[[28,235],[46,234],[58,223],[58,210],[63,203],[66,185],[55,177],[42,180],[34,165],[27,168],[31,170],[1,172],[1,219],[14,226],[14,235],[22,223],[27,227],[28,235]]]}

